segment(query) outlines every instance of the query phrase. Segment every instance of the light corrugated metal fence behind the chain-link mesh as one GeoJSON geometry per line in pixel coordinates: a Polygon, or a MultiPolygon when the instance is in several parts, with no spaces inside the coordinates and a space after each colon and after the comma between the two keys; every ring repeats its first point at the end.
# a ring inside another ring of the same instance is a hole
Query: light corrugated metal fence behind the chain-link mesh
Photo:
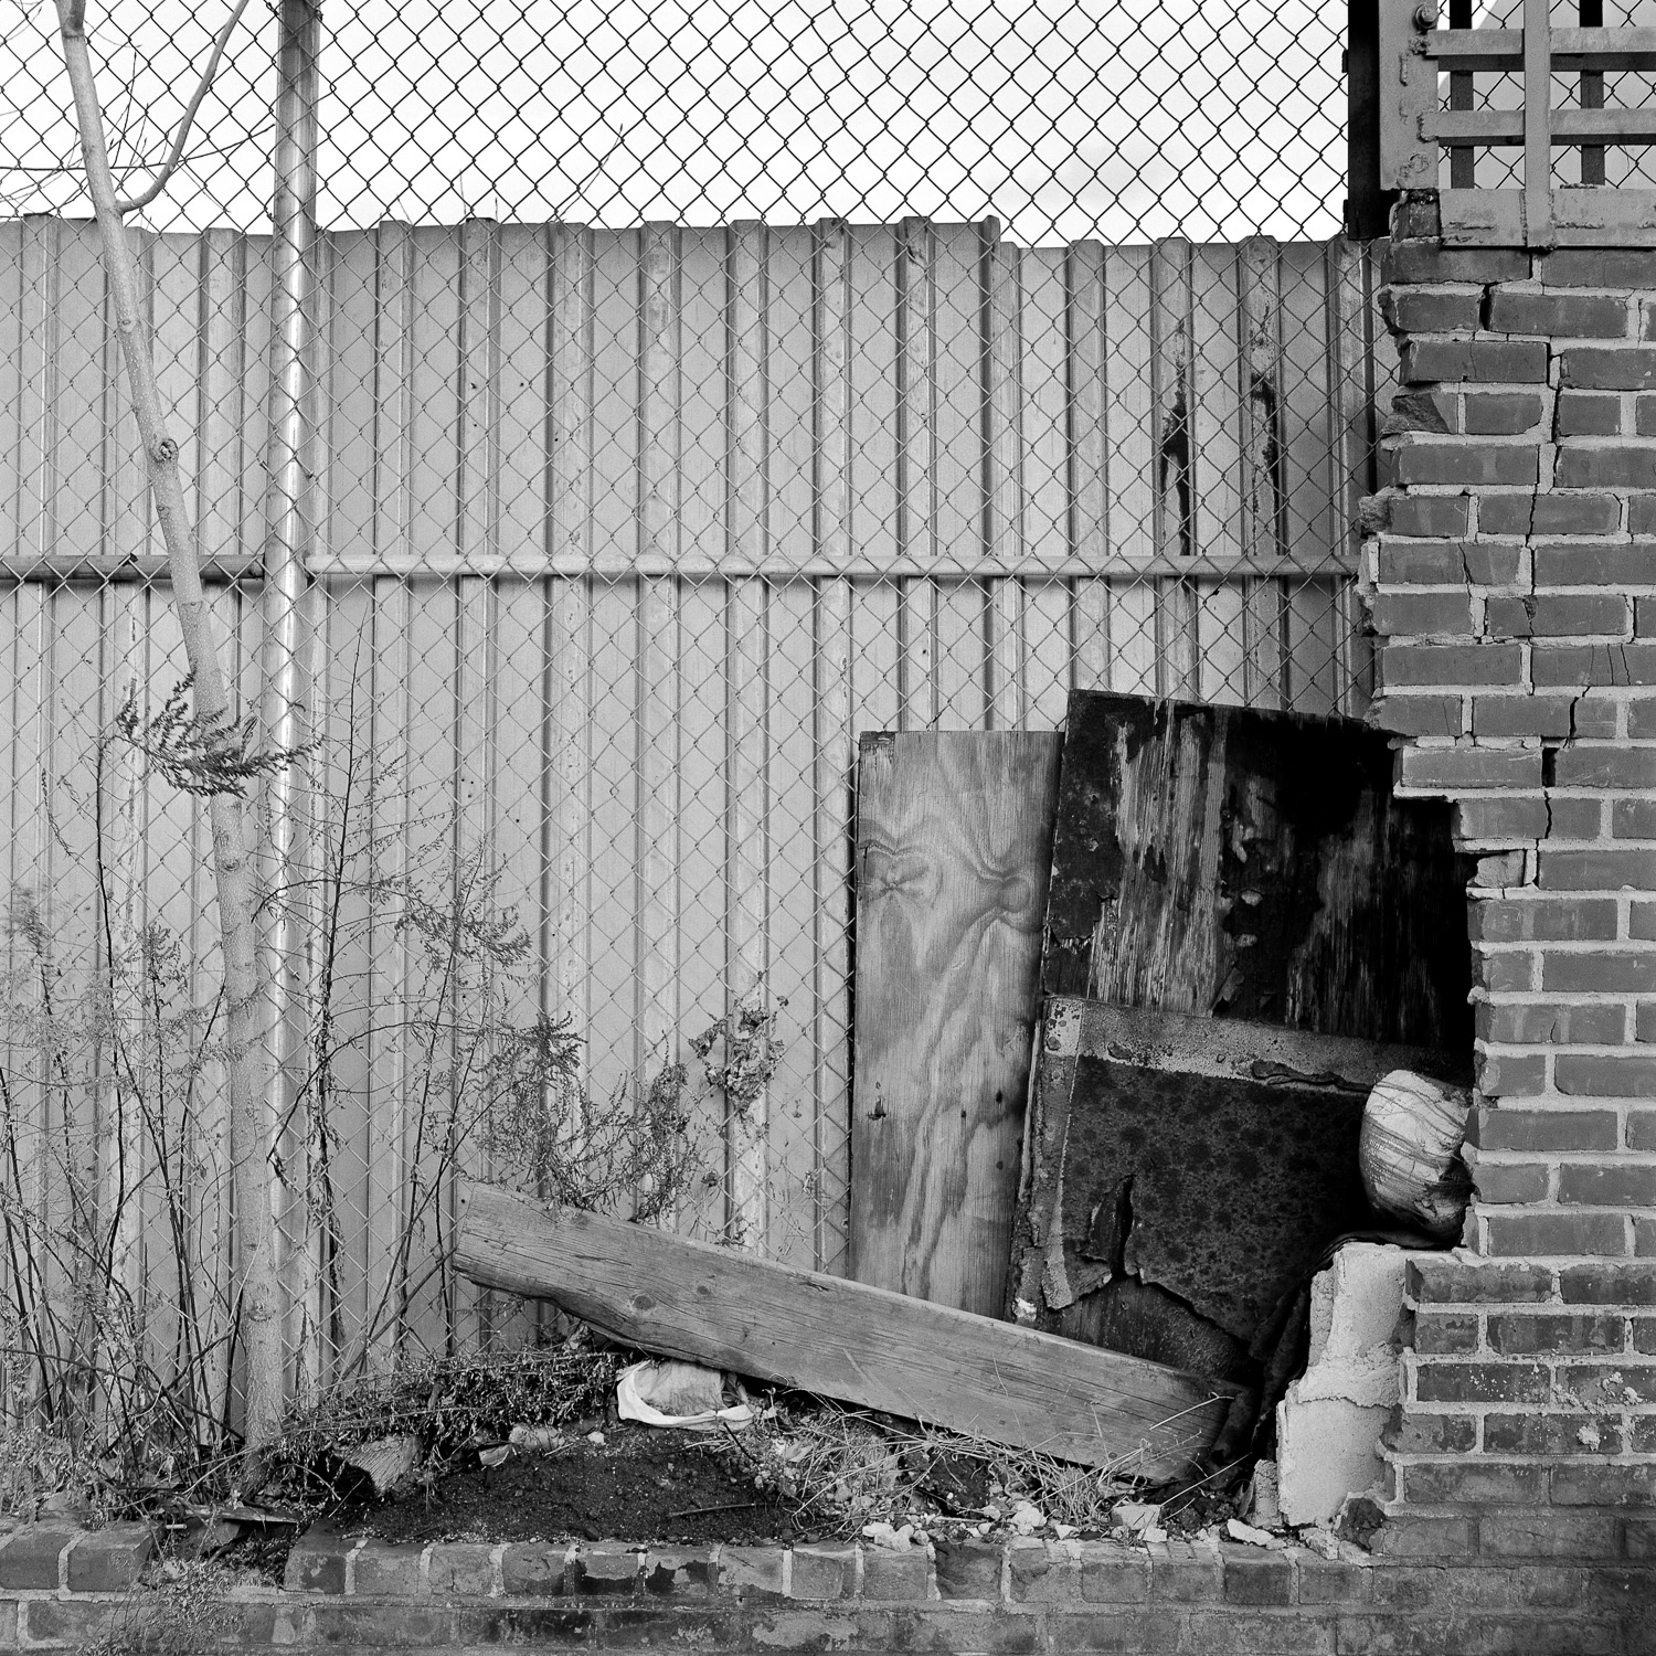
{"type": "MultiPolygon", "coordinates": [[[[760,979],[785,995],[768,1151],[710,1123],[725,1217],[836,1268],[856,732],[1053,727],[1075,684],[1361,710],[1373,250],[1017,248],[924,220],[384,224],[321,245],[311,621],[333,795],[371,765],[388,854],[436,833],[505,859],[540,1005],[573,1015],[599,1091],[760,979]]],[[[144,245],[227,573],[257,571],[262,538],[263,253],[222,232],[144,245]]],[[[126,684],[159,697],[181,667],[164,588],[132,580],[161,548],[93,229],[0,224],[0,283],[5,873],[50,901],[84,984],[98,916],[63,825],[126,684]]],[[[257,580],[215,591],[250,694],[257,580]]],[[[139,793],[134,914],[207,972],[202,823],[139,793]]],[[[363,929],[333,969],[363,1005],[336,1060],[326,1262],[290,1214],[295,1292],[336,1338],[402,1292],[419,1110],[419,962],[344,901],[363,929]]],[[[404,1287],[439,1338],[452,1308],[404,1287]]]]}

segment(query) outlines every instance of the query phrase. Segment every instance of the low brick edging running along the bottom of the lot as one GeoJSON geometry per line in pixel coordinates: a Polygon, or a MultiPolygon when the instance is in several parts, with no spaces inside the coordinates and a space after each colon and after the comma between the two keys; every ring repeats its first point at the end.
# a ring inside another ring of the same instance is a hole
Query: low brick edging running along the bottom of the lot
{"type": "MultiPolygon", "coordinates": [[[[1545,1557],[1524,1517],[1388,1524],[1341,1560],[1202,1542],[392,1545],[320,1527],[286,1586],[224,1595],[214,1649],[1649,1651],[1656,1515],[1618,1519],[1595,1563],[1545,1557]]],[[[0,1545],[0,1649],[94,1643],[149,1557],[142,1525],[18,1528],[0,1545]]]]}

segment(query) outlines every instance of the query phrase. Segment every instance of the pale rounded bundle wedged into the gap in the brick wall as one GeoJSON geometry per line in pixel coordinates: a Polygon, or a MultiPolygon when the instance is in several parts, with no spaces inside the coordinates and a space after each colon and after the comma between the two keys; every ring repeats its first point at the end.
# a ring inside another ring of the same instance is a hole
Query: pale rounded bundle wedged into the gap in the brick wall
{"type": "Polygon", "coordinates": [[[1472,1174],[1461,1159],[1472,1095],[1413,1070],[1383,1075],[1363,1106],[1358,1167],[1368,1199],[1451,1240],[1461,1234],[1472,1174]]]}

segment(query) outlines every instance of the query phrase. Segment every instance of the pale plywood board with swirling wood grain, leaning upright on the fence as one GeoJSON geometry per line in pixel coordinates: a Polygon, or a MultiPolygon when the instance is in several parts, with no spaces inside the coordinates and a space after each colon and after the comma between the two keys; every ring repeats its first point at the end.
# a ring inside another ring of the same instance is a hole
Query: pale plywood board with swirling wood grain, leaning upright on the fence
{"type": "Polygon", "coordinates": [[[851,1275],[1000,1313],[1061,737],[869,734],[856,792],[851,1275]]]}

